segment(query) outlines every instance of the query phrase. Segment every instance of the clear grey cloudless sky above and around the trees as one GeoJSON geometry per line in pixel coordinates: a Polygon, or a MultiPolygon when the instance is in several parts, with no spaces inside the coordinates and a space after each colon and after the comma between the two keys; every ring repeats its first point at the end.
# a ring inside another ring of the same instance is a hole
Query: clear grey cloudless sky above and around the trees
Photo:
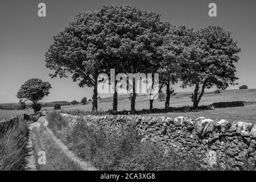
{"type": "MultiPolygon", "coordinates": [[[[142,10],[154,11],[162,20],[176,25],[195,29],[218,25],[232,32],[238,41],[241,52],[236,64],[237,89],[246,84],[256,88],[256,1],[245,0],[1,0],[0,2],[0,103],[18,102],[16,92],[30,78],[40,78],[52,85],[50,94],[43,102],[80,101],[83,97],[92,98],[92,88],[80,88],[77,82],[68,78],[50,78],[52,71],[45,66],[45,53],[53,36],[68,26],[80,12],[97,10],[104,5],[131,5],[142,10]],[[46,17],[38,16],[38,4],[46,4],[46,17]],[[217,17],[209,17],[208,5],[217,5],[217,17]]],[[[180,83],[174,86],[175,92],[187,92],[180,83]]],[[[216,88],[212,88],[214,90],[216,88]]],[[[102,97],[106,97],[103,95],[102,97]]]]}

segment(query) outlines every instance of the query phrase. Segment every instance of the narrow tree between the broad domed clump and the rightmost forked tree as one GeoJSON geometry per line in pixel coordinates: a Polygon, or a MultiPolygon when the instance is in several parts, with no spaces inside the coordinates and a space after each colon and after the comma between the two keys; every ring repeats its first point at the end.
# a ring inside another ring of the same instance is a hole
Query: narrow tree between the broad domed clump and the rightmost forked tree
{"type": "MultiPolygon", "coordinates": [[[[161,57],[158,73],[160,77],[159,92],[166,87],[165,108],[170,106],[170,98],[174,93],[171,85],[174,85],[180,78],[180,57],[185,46],[191,43],[193,30],[185,26],[174,26],[168,22],[162,24],[162,34],[164,35],[163,45],[159,47],[161,57]]],[[[150,109],[152,109],[150,101],[150,109]]]]}

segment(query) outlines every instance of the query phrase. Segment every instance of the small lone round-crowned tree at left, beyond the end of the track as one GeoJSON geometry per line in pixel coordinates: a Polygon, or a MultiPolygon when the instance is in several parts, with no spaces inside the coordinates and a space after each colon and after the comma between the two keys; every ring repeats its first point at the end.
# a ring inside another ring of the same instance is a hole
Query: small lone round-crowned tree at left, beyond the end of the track
{"type": "Polygon", "coordinates": [[[39,111],[38,101],[42,100],[45,96],[48,96],[49,89],[51,88],[52,87],[49,82],[44,82],[39,78],[31,78],[21,86],[19,92],[16,94],[16,97],[20,98],[21,100],[26,99],[32,101],[32,108],[34,107],[33,109],[36,113],[39,111]]]}

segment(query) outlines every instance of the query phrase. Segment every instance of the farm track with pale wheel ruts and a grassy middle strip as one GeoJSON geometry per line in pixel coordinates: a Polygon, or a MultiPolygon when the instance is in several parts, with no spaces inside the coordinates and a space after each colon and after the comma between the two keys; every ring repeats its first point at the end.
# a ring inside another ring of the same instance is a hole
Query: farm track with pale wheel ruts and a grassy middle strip
{"type": "MultiPolygon", "coordinates": [[[[68,150],[68,147],[55,137],[47,127],[48,122],[44,117],[39,118],[38,122],[31,123],[31,139],[34,149],[34,160],[31,159],[30,166],[39,171],[95,171],[89,163],[83,162],[68,150]],[[38,164],[40,158],[39,151],[46,152],[46,164],[38,164]],[[36,162],[36,164],[35,164],[36,162]],[[34,164],[34,165],[33,165],[34,164]]],[[[33,158],[31,156],[31,158],[33,158]]],[[[30,168],[33,170],[33,168],[30,168]]]]}

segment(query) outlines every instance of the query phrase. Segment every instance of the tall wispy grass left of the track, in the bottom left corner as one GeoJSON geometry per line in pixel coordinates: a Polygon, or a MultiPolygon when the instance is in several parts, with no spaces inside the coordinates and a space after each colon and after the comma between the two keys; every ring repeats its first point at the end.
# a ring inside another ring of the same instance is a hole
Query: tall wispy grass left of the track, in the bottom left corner
{"type": "Polygon", "coordinates": [[[26,167],[28,128],[25,121],[7,127],[0,135],[0,171],[17,171],[26,167]]]}

